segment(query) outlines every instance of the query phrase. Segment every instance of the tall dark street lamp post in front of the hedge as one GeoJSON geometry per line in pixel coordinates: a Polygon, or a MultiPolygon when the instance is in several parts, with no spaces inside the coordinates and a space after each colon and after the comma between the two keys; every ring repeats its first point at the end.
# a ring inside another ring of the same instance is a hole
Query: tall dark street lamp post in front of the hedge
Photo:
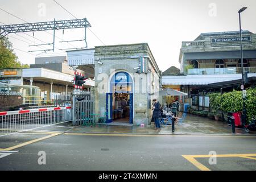
{"type": "MultiPolygon", "coordinates": [[[[242,69],[242,90],[245,89],[245,78],[244,78],[244,73],[243,73],[243,46],[242,46],[242,28],[241,28],[241,13],[245,11],[247,7],[242,7],[238,11],[239,14],[239,26],[240,26],[240,49],[241,49],[241,69],[242,69]]],[[[243,97],[243,115],[242,115],[242,123],[245,125],[246,122],[246,108],[245,108],[245,97],[243,97]]]]}

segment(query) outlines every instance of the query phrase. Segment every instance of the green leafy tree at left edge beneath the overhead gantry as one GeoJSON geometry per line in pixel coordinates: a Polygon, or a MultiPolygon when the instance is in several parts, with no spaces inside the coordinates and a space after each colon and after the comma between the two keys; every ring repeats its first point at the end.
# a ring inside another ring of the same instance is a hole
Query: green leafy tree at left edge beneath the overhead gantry
{"type": "Polygon", "coordinates": [[[18,56],[13,52],[13,44],[8,38],[0,39],[0,69],[29,68],[28,64],[18,61],[18,56]]]}

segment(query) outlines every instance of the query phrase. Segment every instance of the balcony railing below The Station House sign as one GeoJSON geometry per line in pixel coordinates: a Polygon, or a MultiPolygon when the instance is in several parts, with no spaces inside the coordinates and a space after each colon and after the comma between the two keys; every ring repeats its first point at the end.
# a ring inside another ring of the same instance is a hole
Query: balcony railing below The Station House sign
{"type": "MultiPolygon", "coordinates": [[[[243,70],[248,73],[256,73],[256,67],[246,67],[243,70]]],[[[188,69],[187,75],[226,75],[226,74],[240,74],[241,68],[197,68],[188,69]]]]}

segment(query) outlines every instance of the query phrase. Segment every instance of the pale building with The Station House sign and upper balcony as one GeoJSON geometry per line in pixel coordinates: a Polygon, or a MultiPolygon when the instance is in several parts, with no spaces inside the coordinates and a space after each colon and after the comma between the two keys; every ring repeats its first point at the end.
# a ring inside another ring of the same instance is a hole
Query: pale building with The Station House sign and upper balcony
{"type": "MultiPolygon", "coordinates": [[[[242,31],[242,45],[243,69],[249,80],[246,86],[254,86],[256,34],[242,31]]],[[[179,85],[181,91],[188,93],[184,103],[195,109],[208,109],[208,92],[226,92],[241,86],[240,32],[202,33],[193,41],[182,42],[179,63],[181,74],[163,75],[163,87],[179,85]]]]}

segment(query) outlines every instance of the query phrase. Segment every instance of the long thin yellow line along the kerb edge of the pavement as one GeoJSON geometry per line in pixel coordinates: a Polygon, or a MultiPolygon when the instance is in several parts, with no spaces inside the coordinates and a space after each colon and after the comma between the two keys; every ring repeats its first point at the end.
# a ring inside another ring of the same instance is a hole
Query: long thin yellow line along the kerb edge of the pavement
{"type": "Polygon", "coordinates": [[[64,133],[64,135],[85,135],[85,136],[116,136],[116,137],[236,137],[256,138],[256,136],[234,136],[234,135],[170,135],[170,134],[106,134],[106,133],[64,133]]]}

